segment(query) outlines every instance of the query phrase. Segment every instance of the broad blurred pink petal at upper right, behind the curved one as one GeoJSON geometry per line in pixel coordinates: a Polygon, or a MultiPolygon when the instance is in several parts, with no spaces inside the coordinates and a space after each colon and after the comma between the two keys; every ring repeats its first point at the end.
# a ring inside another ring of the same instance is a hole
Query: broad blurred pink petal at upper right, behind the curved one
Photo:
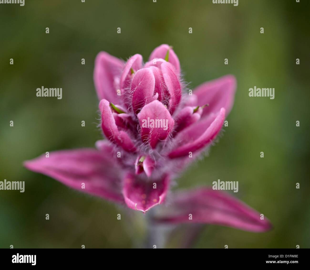
{"type": "Polygon", "coordinates": [[[221,108],[225,108],[228,116],[236,92],[236,79],[232,75],[226,75],[218,79],[206,82],[197,86],[193,93],[197,96],[199,106],[209,104],[203,108],[203,116],[208,113],[217,113],[221,108]]]}

